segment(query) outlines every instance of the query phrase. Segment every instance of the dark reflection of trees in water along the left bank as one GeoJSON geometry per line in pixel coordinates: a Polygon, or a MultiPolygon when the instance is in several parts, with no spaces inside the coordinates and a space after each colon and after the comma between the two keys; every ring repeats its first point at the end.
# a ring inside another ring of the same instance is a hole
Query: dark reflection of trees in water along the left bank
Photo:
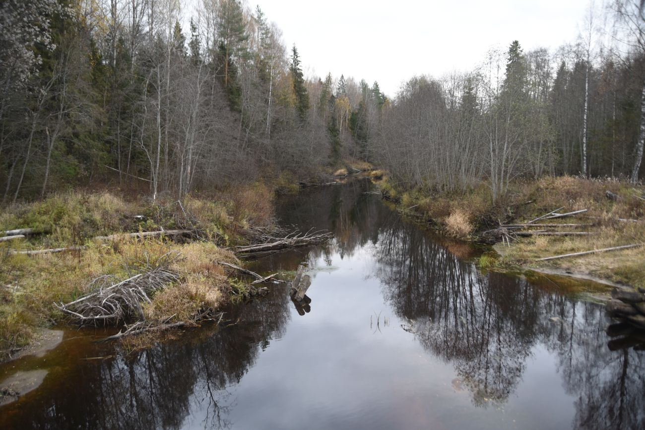
{"type": "Polygon", "coordinates": [[[226,416],[233,399],[226,388],[241,380],[273,339],[282,337],[289,306],[286,291],[276,290],[230,309],[228,317],[239,318],[239,324],[203,327],[181,340],[81,366],[63,386],[30,402],[30,410],[15,416],[16,422],[24,425],[27,419],[38,429],[174,429],[202,411],[204,422],[193,425],[230,427],[226,416]]]}

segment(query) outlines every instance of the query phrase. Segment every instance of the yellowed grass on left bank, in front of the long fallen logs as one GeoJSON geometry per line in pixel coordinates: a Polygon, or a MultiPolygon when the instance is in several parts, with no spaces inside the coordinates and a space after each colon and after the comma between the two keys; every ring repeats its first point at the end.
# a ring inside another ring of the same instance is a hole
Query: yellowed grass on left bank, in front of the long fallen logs
{"type": "Polygon", "coordinates": [[[217,309],[228,300],[230,282],[215,262],[233,262],[235,257],[209,242],[181,245],[156,239],[120,239],[90,244],[78,253],[3,257],[0,350],[26,344],[36,327],[61,319],[62,313],[52,303],[70,302],[90,292],[90,280],[106,274],[126,279],[137,264],[146,260],[154,264],[172,250],[182,256],[173,267],[180,275],[179,281],[144,307],[148,320],[190,320],[200,311],[217,309]]]}

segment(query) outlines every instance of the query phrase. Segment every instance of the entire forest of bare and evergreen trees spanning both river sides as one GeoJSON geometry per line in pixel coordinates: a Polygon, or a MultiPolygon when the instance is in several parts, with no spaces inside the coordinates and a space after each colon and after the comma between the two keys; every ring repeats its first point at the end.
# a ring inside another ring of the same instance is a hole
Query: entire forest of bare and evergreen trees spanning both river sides
{"type": "Polygon", "coordinates": [[[408,188],[486,184],[493,200],[519,179],[637,182],[640,6],[590,8],[571,43],[510,40],[470,72],[414,76],[386,95],[377,82],[304,75],[314,53],[285,46],[270,21],[280,17],[239,0],[200,0],[190,17],[178,0],[6,0],[2,201],[110,181],[181,198],[347,160],[408,188]]]}

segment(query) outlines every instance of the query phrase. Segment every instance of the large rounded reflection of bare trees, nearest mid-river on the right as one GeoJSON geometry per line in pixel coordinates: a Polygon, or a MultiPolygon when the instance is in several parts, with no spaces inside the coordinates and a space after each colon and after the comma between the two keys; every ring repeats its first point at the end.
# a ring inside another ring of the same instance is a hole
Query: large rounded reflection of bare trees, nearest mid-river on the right
{"type": "Polygon", "coordinates": [[[393,220],[375,252],[384,293],[433,355],[450,360],[474,400],[505,400],[517,386],[537,318],[536,291],[479,277],[417,228],[393,220]]]}

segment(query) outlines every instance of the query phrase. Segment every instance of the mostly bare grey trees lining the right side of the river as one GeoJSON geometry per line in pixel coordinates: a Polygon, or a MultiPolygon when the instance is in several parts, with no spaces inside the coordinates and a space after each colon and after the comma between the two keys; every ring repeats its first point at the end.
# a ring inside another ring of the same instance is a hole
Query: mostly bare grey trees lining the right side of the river
{"type": "MultiPolygon", "coordinates": [[[[414,77],[402,86],[374,142],[379,164],[402,182],[493,199],[518,177],[642,178],[645,18],[616,1],[613,24],[555,53],[491,50],[471,73],[414,77]],[[613,46],[598,48],[612,30],[613,46]]],[[[597,19],[597,17],[596,17],[597,19]]]]}

